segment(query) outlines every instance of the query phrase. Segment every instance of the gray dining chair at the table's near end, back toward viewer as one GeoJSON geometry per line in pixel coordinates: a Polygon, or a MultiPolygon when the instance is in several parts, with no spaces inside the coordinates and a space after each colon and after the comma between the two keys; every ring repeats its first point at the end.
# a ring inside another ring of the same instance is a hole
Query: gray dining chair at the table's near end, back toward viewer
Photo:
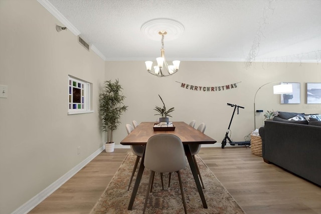
{"type": "Polygon", "coordinates": [[[155,172],[177,172],[181,188],[184,211],[187,213],[186,201],[180,170],[186,168],[186,158],[181,139],[174,134],[157,134],[150,137],[146,143],[144,166],[150,169],[143,212],[145,212],[149,190],[155,172]]]}

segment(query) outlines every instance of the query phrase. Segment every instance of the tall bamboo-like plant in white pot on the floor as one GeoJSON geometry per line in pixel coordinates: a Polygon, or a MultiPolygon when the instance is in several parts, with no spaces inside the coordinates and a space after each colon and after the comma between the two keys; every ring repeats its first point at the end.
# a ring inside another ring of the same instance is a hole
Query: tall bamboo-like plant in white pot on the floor
{"type": "Polygon", "coordinates": [[[99,94],[99,115],[102,119],[101,130],[107,132],[107,141],[105,142],[106,152],[113,152],[113,131],[120,124],[120,115],[127,110],[128,106],[123,104],[125,96],[122,95],[122,87],[118,79],[115,82],[105,81],[104,88],[99,94]]]}

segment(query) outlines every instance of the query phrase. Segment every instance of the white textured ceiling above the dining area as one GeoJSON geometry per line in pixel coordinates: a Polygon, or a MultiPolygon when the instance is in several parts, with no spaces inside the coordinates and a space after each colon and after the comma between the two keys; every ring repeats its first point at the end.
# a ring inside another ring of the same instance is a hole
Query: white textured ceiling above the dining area
{"type": "Polygon", "coordinates": [[[140,28],[168,18],[185,28],[176,40],[165,36],[168,60],[252,61],[255,56],[265,62],[321,62],[321,0],[38,1],[58,10],[67,20],[62,23],[78,30],[107,61],[159,57],[161,36],[150,40],[140,28]]]}

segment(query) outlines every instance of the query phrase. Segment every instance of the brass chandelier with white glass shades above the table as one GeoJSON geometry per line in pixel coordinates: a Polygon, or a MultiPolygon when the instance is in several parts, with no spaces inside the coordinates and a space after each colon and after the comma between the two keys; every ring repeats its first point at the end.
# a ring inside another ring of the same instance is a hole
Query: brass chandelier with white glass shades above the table
{"type": "Polygon", "coordinates": [[[179,71],[180,62],[178,60],[173,61],[173,65],[169,65],[165,59],[165,50],[164,50],[164,36],[167,34],[166,31],[159,31],[159,35],[162,36],[162,48],[161,48],[161,57],[156,58],[157,65],[152,69],[152,61],[146,61],[146,70],[148,73],[155,75],[157,77],[166,77],[175,74],[179,71]]]}

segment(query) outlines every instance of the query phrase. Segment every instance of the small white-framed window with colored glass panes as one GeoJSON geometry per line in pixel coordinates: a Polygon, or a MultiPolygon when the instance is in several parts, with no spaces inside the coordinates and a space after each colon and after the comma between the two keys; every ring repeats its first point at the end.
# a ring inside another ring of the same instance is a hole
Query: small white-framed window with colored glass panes
{"type": "Polygon", "coordinates": [[[92,84],[78,78],[69,77],[68,114],[82,114],[93,112],[91,110],[92,84]]]}

